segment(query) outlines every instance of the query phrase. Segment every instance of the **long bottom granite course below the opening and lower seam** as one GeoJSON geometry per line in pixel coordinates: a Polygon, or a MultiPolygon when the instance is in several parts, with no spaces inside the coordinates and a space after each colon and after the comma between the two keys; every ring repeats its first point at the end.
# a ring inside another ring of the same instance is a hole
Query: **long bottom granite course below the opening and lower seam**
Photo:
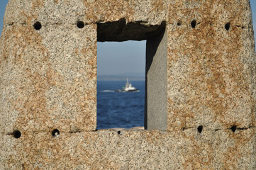
{"type": "Polygon", "coordinates": [[[1,134],[1,169],[255,169],[255,128],[1,134]],[[15,148],[15,149],[13,149],[15,148]],[[4,156],[3,156],[4,155],[4,156]]]}

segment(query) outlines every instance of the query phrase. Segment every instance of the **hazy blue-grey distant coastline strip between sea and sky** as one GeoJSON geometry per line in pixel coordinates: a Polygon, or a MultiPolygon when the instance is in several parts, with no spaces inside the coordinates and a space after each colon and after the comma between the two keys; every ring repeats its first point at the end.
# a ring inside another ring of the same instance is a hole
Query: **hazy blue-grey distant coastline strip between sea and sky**
{"type": "Polygon", "coordinates": [[[123,76],[123,75],[101,75],[97,77],[98,81],[126,81],[126,79],[130,81],[145,81],[145,77],[143,76],[123,76]]]}

